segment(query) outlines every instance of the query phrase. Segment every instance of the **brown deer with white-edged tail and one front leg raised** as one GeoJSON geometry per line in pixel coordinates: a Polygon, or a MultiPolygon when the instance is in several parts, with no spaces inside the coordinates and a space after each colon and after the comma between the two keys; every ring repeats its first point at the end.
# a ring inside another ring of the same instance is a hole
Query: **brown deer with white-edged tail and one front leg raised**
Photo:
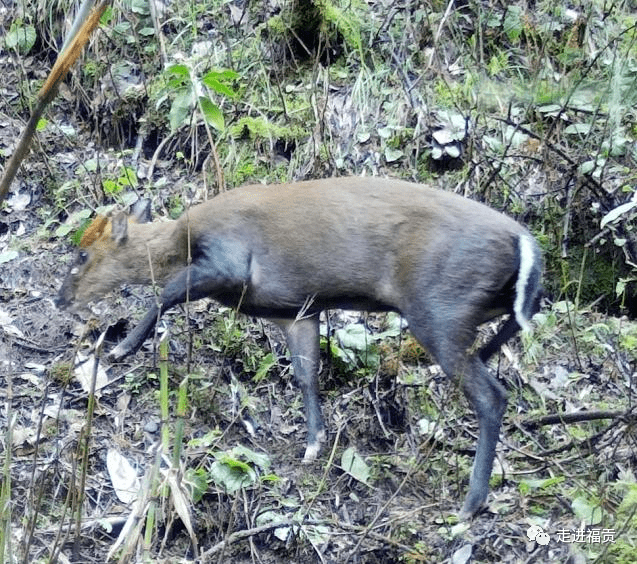
{"type": "Polygon", "coordinates": [[[56,303],[82,306],[121,284],[163,285],[158,304],[113,349],[136,352],[158,317],[211,297],[277,322],[303,392],[316,458],[325,429],[319,407],[319,313],[397,311],[442,370],[459,379],[479,438],[461,517],[485,502],[506,407],[485,362],[529,326],[540,295],[541,256],[531,234],[480,203],[382,178],[333,178],[245,186],[192,207],[175,221],[98,217],[85,231],[56,303]],[[151,269],[152,266],[152,269],[151,269]],[[508,320],[477,354],[481,323],[508,320]]]}

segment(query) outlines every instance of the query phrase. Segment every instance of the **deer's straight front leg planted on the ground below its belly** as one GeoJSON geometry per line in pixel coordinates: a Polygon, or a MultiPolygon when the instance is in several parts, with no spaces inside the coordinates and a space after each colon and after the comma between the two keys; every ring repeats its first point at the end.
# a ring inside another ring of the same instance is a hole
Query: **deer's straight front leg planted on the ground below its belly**
{"type": "Polygon", "coordinates": [[[301,319],[275,319],[283,328],[290,349],[294,377],[301,392],[307,419],[307,447],[303,462],[315,460],[325,441],[325,426],[318,394],[319,315],[301,319]]]}

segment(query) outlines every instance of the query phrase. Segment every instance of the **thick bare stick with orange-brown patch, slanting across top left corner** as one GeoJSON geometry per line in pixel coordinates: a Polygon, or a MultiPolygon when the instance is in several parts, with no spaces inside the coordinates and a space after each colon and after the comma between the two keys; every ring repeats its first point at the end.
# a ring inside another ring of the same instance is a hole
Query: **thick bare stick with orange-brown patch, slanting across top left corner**
{"type": "Polygon", "coordinates": [[[9,193],[11,182],[13,182],[13,179],[18,172],[18,167],[29,150],[31,139],[33,139],[33,135],[35,134],[35,128],[40,121],[40,117],[42,117],[42,114],[44,113],[44,109],[55,97],[58,85],[66,76],[71,65],[80,55],[82,48],[88,41],[93,30],[97,27],[97,24],[99,23],[108,4],[109,2],[107,0],[103,0],[93,9],[87,20],[84,22],[84,25],[82,25],[80,30],[77,32],[77,35],[69,43],[69,46],[58,57],[58,60],[55,62],[55,65],[49,73],[49,77],[44,83],[44,86],[42,86],[40,92],[38,92],[37,104],[33,109],[31,118],[22,131],[22,135],[20,135],[15,151],[13,152],[13,155],[11,155],[9,162],[5,167],[2,180],[0,180],[0,203],[2,203],[9,193]]]}

